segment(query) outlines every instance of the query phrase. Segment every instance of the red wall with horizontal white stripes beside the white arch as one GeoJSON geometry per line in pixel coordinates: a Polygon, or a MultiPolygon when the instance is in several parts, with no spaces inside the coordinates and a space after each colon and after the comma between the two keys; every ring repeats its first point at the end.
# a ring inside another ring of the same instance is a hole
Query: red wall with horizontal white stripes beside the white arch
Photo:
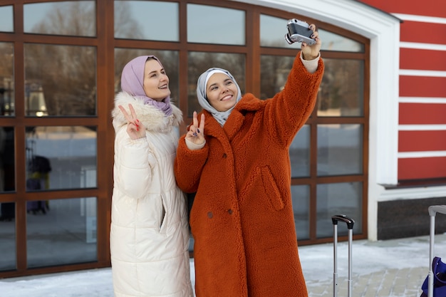
{"type": "Polygon", "coordinates": [[[446,1],[362,2],[403,20],[398,179],[446,178],[446,1]]]}

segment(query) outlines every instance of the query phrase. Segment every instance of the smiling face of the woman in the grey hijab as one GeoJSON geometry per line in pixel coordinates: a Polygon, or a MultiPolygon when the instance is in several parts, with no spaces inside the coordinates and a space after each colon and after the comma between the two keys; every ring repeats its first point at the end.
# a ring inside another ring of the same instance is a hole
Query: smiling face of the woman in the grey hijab
{"type": "Polygon", "coordinates": [[[218,111],[226,111],[237,103],[237,85],[224,73],[214,73],[207,80],[206,97],[218,111]]]}

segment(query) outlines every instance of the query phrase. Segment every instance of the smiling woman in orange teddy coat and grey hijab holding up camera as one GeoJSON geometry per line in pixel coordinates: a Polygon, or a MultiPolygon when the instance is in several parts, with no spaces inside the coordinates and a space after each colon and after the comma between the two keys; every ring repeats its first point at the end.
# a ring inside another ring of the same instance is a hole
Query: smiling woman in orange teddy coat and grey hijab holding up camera
{"type": "Polygon", "coordinates": [[[316,103],[321,40],[302,43],[284,89],[240,94],[229,71],[197,83],[201,115],[180,138],[177,184],[197,192],[190,213],[197,297],[308,296],[291,205],[289,145],[316,103]],[[204,123],[206,123],[204,125],[204,123]]]}

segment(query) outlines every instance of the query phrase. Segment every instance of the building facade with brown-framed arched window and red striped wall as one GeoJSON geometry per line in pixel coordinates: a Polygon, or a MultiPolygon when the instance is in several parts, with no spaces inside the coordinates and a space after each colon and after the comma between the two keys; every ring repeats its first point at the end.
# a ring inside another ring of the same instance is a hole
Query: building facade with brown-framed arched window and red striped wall
{"type": "Polygon", "coordinates": [[[0,0],[0,278],[110,266],[125,63],[160,58],[184,133],[209,67],[262,99],[281,89],[294,18],[318,26],[326,63],[290,147],[299,244],[331,241],[339,213],[355,239],[427,234],[446,203],[446,4],[429,1],[0,0]]]}

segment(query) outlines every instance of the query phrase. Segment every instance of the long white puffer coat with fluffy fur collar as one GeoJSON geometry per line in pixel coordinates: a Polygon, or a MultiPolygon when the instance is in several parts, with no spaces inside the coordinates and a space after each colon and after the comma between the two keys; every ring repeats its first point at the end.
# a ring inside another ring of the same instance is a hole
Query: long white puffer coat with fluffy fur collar
{"type": "Polygon", "coordinates": [[[181,110],[166,117],[152,105],[119,93],[112,111],[115,164],[110,226],[116,297],[193,296],[185,194],[177,187],[173,162],[181,110]],[[135,108],[146,137],[131,140],[118,105],[135,108]]]}

